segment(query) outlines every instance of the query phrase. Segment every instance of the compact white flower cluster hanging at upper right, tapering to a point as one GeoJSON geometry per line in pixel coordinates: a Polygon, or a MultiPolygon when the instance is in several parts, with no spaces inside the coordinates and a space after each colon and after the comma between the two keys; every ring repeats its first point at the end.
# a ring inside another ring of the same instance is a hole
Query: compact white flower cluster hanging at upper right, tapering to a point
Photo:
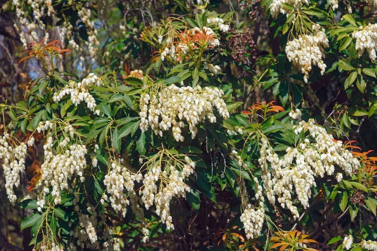
{"type": "Polygon", "coordinates": [[[320,30],[319,24],[313,25],[313,28],[313,34],[300,35],[299,38],[289,41],[285,47],[288,60],[304,74],[305,82],[308,82],[312,65],[317,65],[322,75],[326,70],[322,58],[325,56],[324,48],[329,47],[328,39],[324,30],[320,30]]]}

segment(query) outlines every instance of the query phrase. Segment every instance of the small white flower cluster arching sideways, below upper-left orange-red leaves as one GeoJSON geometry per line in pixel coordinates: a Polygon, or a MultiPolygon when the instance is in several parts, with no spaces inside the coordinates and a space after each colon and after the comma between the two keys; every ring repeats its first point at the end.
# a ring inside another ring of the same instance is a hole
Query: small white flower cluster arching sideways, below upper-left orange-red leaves
{"type": "MultiPolygon", "coordinates": [[[[70,94],[70,99],[75,106],[80,104],[82,101],[85,101],[87,108],[89,108],[90,111],[94,111],[97,104],[94,97],[89,93],[89,90],[92,88],[92,86],[100,86],[102,84],[103,82],[101,78],[94,75],[94,73],[90,73],[81,82],[76,83],[75,81],[70,80],[69,85],[54,93],[54,97],[52,99],[54,102],[59,102],[64,96],[70,94]]],[[[96,110],[94,112],[97,115],[100,115],[100,110],[96,110]]]]}

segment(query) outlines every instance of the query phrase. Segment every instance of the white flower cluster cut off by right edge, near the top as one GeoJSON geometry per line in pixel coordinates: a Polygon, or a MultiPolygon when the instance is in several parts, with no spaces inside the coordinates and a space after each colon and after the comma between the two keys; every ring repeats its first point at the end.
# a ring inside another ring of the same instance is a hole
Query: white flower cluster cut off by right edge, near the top
{"type": "Polygon", "coordinates": [[[375,48],[377,46],[377,24],[368,24],[360,27],[360,30],[352,32],[352,38],[356,38],[357,57],[363,55],[364,50],[368,52],[369,58],[374,61],[376,56],[375,48]]]}

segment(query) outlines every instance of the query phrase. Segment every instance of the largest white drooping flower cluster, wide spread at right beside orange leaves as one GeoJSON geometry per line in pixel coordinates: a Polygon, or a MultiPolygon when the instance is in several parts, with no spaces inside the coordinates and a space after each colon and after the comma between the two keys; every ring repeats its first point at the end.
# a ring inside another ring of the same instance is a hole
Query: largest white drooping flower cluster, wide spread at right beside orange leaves
{"type": "Polygon", "coordinates": [[[279,204],[283,208],[287,207],[296,219],[299,214],[292,202],[294,190],[297,199],[307,208],[311,187],[316,186],[315,176],[323,177],[325,173],[334,175],[335,166],[339,166],[350,176],[352,170],[359,169],[360,163],[351,152],[343,149],[342,141],[334,140],[333,135],[315,125],[313,119],[308,122],[301,121],[293,129],[296,135],[302,130],[308,134],[297,148],[287,148],[287,153],[279,159],[268,144],[267,138],[262,137],[261,157],[258,161],[263,172],[261,178],[268,200],[275,204],[277,196],[279,204]],[[271,172],[268,164],[271,166],[271,172]]]}

